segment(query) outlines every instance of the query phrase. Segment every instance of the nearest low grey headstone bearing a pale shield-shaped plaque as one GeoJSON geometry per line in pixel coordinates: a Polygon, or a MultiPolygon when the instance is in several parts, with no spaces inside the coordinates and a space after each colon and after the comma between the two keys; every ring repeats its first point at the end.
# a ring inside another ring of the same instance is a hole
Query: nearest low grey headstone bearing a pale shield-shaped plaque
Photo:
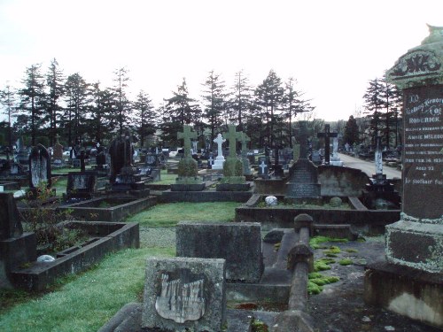
{"type": "Polygon", "coordinates": [[[220,332],[226,320],[224,277],[224,259],[148,259],[142,328],[220,332]]]}

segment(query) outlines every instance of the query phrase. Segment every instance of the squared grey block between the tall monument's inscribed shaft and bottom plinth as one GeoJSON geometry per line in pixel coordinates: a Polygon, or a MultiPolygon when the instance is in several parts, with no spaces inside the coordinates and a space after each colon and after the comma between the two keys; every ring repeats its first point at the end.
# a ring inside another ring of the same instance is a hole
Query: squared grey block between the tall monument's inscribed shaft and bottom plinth
{"type": "Polygon", "coordinates": [[[388,262],[443,273],[443,225],[400,220],[385,234],[388,262]]]}

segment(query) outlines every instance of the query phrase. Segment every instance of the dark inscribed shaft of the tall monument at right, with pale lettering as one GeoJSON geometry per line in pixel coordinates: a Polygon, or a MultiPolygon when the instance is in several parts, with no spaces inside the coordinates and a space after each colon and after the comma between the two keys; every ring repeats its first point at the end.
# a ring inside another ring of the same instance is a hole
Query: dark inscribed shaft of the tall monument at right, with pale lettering
{"type": "Polygon", "coordinates": [[[405,89],[404,93],[403,212],[438,219],[443,197],[443,86],[405,89]],[[430,199],[411,204],[419,197],[430,199]]]}

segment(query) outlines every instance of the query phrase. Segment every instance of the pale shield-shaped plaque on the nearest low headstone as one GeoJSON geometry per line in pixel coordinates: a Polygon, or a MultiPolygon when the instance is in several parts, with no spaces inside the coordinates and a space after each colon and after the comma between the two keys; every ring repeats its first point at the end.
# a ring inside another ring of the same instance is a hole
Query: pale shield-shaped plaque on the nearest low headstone
{"type": "Polygon", "coordinates": [[[161,317],[177,323],[198,320],[206,311],[204,287],[204,277],[189,270],[181,269],[178,275],[164,272],[155,310],[161,317]]]}

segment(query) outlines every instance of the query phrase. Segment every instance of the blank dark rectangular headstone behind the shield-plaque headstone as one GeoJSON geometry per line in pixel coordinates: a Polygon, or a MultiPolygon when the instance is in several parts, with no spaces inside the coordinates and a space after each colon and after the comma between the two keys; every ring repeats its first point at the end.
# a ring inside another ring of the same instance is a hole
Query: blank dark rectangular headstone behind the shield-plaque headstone
{"type": "Polygon", "coordinates": [[[181,221],[176,228],[178,257],[226,259],[226,279],[260,282],[263,273],[258,222],[181,221]]]}

